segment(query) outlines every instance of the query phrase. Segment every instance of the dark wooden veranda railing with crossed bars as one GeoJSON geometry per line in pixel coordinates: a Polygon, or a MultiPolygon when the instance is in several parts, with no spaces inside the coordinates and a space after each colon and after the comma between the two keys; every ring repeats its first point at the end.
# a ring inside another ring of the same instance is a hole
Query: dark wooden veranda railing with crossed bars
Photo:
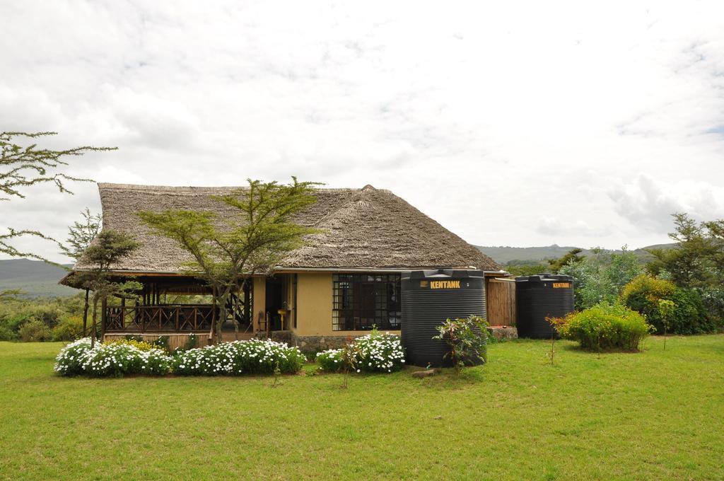
{"type": "Polygon", "coordinates": [[[195,332],[211,329],[214,306],[109,306],[106,332],[195,332]]]}

